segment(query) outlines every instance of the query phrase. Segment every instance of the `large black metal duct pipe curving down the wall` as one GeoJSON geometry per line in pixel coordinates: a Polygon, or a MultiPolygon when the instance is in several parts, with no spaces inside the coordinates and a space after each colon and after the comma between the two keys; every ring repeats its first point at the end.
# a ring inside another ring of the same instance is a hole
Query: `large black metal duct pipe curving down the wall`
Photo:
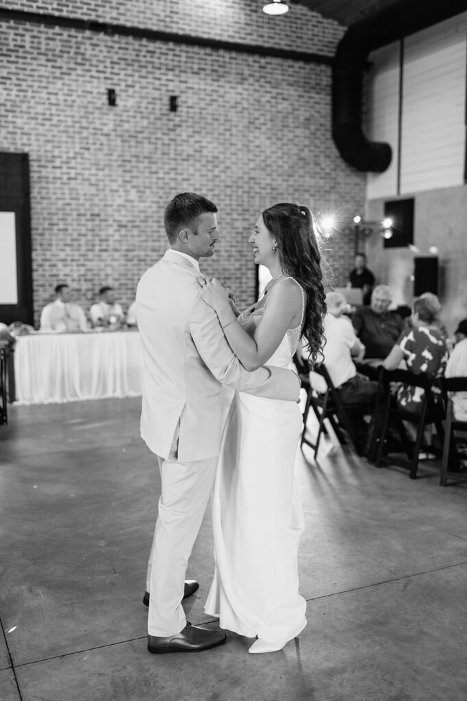
{"type": "Polygon", "coordinates": [[[348,28],[332,68],[332,137],[353,168],[383,172],[391,163],[389,144],[370,141],[362,129],[363,71],[370,51],[466,10],[466,0],[400,0],[348,28]]]}

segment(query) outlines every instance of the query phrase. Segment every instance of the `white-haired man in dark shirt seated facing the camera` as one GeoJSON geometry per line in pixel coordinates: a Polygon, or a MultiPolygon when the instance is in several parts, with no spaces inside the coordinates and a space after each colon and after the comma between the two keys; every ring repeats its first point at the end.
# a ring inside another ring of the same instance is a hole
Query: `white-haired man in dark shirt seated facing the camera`
{"type": "Polygon", "coordinates": [[[369,307],[360,307],[352,316],[353,328],[365,346],[365,359],[386,358],[404,329],[404,320],[395,311],[389,311],[391,290],[377,285],[369,307]]]}

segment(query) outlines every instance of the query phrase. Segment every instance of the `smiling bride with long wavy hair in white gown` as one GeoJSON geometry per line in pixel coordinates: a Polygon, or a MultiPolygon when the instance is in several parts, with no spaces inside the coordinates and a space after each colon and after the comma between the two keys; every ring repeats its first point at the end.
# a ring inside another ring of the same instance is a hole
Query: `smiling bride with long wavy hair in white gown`
{"type": "MultiPolygon", "coordinates": [[[[322,348],[325,294],[307,207],[278,204],[259,217],[248,243],[269,268],[262,297],[238,315],[215,278],[199,278],[229,345],[250,371],[290,367],[304,336],[314,362],[322,348]]],[[[294,465],[302,428],[298,404],[237,392],[226,420],[212,503],[215,576],[206,613],[257,637],[250,653],[280,650],[306,626],[297,554],[303,530],[294,465]]]]}

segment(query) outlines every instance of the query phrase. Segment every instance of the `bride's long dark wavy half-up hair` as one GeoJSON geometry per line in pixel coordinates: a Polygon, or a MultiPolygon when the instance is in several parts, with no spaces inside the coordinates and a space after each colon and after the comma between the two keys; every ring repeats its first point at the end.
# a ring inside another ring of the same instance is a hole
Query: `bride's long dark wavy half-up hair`
{"type": "Polygon", "coordinates": [[[262,217],[266,229],[276,237],[280,267],[306,292],[302,337],[314,366],[318,355],[323,353],[323,318],[326,313],[316,222],[308,207],[290,203],[272,205],[264,210],[262,217]]]}

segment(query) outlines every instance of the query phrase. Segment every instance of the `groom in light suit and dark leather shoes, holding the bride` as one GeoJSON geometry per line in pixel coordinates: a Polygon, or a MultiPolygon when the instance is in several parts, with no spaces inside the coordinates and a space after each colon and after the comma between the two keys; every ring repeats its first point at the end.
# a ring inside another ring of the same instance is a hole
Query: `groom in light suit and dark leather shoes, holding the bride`
{"type": "Polygon", "coordinates": [[[195,627],[182,599],[187,562],[212,491],[221,438],[221,383],[242,392],[297,401],[290,370],[246,372],[231,351],[215,311],[198,297],[200,258],[219,240],[217,207],[196,193],[165,207],[170,248],[137,286],[144,358],[141,435],[156,454],[162,491],[147,569],[148,650],[195,652],[225,642],[220,630],[195,627]]]}

